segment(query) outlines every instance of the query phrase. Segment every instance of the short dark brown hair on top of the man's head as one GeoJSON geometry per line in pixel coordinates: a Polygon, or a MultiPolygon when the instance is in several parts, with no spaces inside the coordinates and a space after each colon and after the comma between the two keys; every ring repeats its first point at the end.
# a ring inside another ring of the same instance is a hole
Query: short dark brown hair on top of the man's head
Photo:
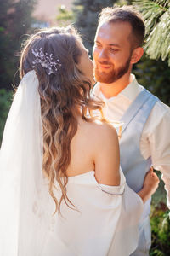
{"type": "Polygon", "coordinates": [[[107,7],[99,14],[99,25],[119,21],[128,22],[132,26],[133,47],[142,46],[145,33],[144,20],[133,6],[107,7]]]}

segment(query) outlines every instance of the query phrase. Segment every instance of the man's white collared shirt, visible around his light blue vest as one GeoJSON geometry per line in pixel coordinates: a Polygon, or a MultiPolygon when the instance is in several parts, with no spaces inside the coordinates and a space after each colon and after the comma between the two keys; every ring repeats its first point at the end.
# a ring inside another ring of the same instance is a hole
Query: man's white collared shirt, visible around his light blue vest
{"type": "MultiPolygon", "coordinates": [[[[106,98],[99,83],[94,86],[93,93],[105,102],[105,118],[120,121],[127,108],[144,89],[131,74],[132,82],[117,96],[106,98]]],[[[167,191],[167,207],[170,208],[170,108],[163,102],[156,102],[147,119],[140,139],[140,151],[144,159],[151,156],[154,169],[161,171],[167,191]]]]}

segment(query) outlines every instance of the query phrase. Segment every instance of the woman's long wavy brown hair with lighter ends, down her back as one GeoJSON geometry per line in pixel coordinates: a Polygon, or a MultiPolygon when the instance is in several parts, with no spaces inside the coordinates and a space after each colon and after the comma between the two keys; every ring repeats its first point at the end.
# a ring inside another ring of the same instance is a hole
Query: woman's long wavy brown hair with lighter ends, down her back
{"type": "MultiPolygon", "coordinates": [[[[93,110],[101,108],[103,102],[90,96],[91,82],[77,63],[82,55],[81,38],[72,27],[54,27],[37,32],[26,41],[20,57],[20,76],[34,69],[39,80],[43,127],[43,172],[48,177],[48,189],[53,197],[56,210],[64,200],[68,207],[74,207],[66,195],[68,177],[66,170],[71,162],[71,140],[77,132],[77,108],[82,110],[82,119],[92,121],[93,110]],[[48,68],[40,63],[33,65],[32,50],[53,55],[61,67],[48,74],[48,68]],[[35,67],[32,67],[35,66],[35,67]],[[63,178],[64,177],[64,178],[63,178]],[[55,181],[62,192],[60,201],[54,195],[55,181]]],[[[102,114],[101,114],[101,119],[102,114]]]]}

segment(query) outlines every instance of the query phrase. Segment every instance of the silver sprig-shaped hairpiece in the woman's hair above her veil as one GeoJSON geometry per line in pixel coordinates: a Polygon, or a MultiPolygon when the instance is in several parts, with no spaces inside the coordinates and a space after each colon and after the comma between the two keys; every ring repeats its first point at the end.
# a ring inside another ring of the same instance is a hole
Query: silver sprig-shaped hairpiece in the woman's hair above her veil
{"type": "Polygon", "coordinates": [[[48,75],[51,73],[54,73],[54,71],[57,71],[57,66],[62,66],[59,62],[59,59],[54,61],[53,54],[50,54],[48,56],[48,53],[43,53],[42,48],[39,50],[32,49],[32,54],[36,57],[35,61],[32,61],[33,68],[36,66],[36,64],[41,64],[42,67],[45,67],[48,69],[48,75]]]}

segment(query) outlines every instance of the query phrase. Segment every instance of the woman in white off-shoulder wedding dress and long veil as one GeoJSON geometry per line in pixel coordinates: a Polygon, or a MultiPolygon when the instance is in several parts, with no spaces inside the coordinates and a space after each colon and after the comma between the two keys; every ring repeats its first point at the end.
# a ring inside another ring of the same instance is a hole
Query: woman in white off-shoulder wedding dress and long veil
{"type": "Polygon", "coordinates": [[[139,195],[127,186],[75,29],[31,36],[20,74],[0,151],[0,255],[129,255],[159,181],[150,170],[139,195]]]}

